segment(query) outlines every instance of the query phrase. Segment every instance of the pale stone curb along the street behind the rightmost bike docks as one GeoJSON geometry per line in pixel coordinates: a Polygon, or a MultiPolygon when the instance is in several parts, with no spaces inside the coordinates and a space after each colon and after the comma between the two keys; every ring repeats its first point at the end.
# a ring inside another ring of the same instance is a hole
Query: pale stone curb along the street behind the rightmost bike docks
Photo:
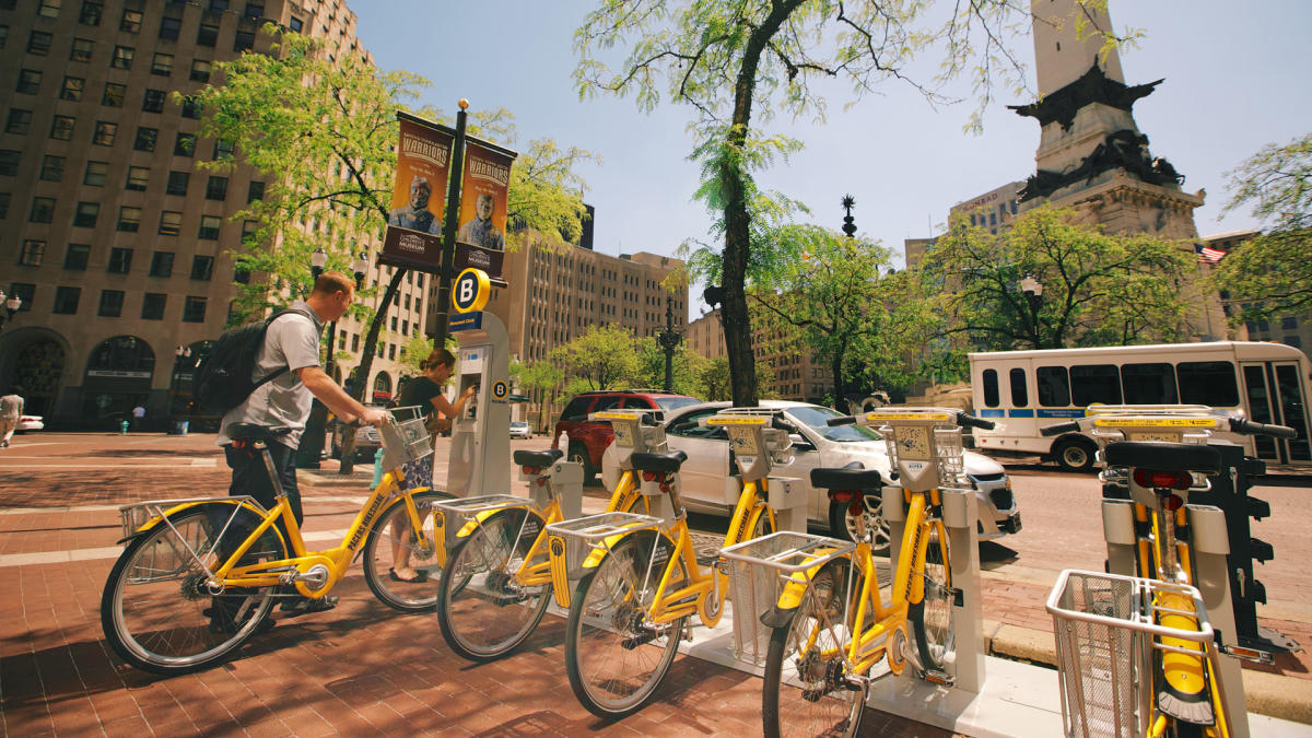
{"type": "MultiPolygon", "coordinates": [[[[1054,671],[1057,667],[1056,645],[1052,633],[1046,630],[985,620],[984,642],[989,655],[1029,662],[1054,671]]],[[[1312,725],[1312,679],[1252,668],[1242,670],[1242,674],[1248,712],[1312,725]]]]}

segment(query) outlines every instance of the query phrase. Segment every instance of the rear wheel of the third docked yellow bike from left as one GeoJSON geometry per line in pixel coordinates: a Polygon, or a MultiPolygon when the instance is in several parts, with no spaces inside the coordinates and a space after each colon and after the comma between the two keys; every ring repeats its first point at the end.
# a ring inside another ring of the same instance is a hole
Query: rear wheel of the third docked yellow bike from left
{"type": "MultiPolygon", "coordinates": [[[[792,620],[774,629],[765,658],[762,709],[765,735],[855,735],[865,689],[844,654],[851,643],[845,622],[846,559],[832,561],[811,580],[792,620]]],[[[853,591],[859,591],[858,583],[853,591]]]]}

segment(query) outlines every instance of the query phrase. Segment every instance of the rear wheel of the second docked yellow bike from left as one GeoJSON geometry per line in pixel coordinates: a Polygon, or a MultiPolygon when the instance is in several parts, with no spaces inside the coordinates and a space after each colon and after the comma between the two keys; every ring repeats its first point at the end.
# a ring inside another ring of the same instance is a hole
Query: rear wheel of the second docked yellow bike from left
{"type": "MultiPolygon", "coordinates": [[[[642,628],[664,571],[652,566],[647,578],[653,552],[664,553],[670,562],[666,567],[678,567],[672,587],[687,582],[684,561],[673,558],[673,542],[655,531],[639,531],[615,544],[575,588],[565,630],[565,672],[575,696],[597,717],[618,720],[642,709],[678,653],[686,617],[659,632],[642,628]]],[[[655,558],[660,561],[660,555],[655,558]]]]}

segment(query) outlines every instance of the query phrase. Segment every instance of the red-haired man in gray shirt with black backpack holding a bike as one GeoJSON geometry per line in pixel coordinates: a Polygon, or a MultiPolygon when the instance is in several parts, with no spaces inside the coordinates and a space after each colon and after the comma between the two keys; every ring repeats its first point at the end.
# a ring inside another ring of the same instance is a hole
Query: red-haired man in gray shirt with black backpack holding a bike
{"type": "MultiPolygon", "coordinates": [[[[319,334],[324,323],[337,320],[346,313],[346,306],[354,295],[356,284],[350,277],[340,272],[324,272],[315,280],[310,297],[291,306],[294,313],[281,315],[269,323],[251,378],[258,381],[277,372],[282,374],[261,385],[245,402],[230,410],[219,427],[218,444],[223,446],[228,466],[232,469],[230,495],[251,495],[265,508],[272,508],[277,503],[273,483],[260,453],[249,444],[234,441],[228,435],[234,423],[291,428],[291,432],[278,436],[268,445],[274,470],[287,494],[287,504],[291,506],[291,512],[299,524],[302,512],[295,452],[300,445],[300,435],[306,429],[314,398],[319,398],[328,410],[345,420],[358,419],[370,425],[380,425],[386,420],[386,411],[365,407],[319,366],[319,334]]],[[[283,534],[286,536],[286,532],[283,534]]],[[[331,596],[319,600],[291,600],[283,604],[282,609],[299,615],[329,609],[336,601],[337,599],[331,596]]]]}

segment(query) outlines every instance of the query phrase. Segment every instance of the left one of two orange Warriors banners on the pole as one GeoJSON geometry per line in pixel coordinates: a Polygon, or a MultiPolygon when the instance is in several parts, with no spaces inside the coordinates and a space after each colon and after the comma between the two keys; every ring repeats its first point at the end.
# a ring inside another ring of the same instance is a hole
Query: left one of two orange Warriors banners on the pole
{"type": "Polygon", "coordinates": [[[442,265],[442,206],[454,131],[405,114],[396,146],[396,181],[382,264],[437,273],[442,265]]]}

